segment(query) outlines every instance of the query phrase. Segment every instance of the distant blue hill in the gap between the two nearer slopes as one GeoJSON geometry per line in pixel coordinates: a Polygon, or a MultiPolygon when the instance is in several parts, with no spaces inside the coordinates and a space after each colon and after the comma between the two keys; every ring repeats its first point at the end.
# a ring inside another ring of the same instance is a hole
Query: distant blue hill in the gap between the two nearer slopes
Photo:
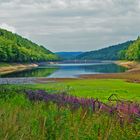
{"type": "Polygon", "coordinates": [[[83,52],[56,52],[62,59],[71,60],[75,59],[76,56],[82,54],[83,52]]]}

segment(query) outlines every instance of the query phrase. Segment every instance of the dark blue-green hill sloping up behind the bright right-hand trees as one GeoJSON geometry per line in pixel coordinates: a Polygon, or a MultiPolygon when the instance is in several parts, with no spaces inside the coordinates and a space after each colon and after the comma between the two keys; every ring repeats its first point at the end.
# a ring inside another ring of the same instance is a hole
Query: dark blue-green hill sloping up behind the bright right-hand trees
{"type": "Polygon", "coordinates": [[[120,51],[127,50],[133,41],[127,41],[122,44],[110,46],[96,51],[90,51],[77,56],[80,60],[118,60],[120,59],[120,51]]]}

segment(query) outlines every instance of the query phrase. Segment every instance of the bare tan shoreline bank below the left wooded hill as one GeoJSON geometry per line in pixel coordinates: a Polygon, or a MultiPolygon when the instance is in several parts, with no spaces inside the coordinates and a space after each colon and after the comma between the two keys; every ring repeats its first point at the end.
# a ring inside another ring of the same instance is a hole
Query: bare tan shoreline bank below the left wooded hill
{"type": "Polygon", "coordinates": [[[7,74],[16,71],[23,71],[34,67],[38,67],[38,65],[37,64],[11,64],[8,66],[1,66],[0,74],[2,75],[2,74],[7,74]]]}

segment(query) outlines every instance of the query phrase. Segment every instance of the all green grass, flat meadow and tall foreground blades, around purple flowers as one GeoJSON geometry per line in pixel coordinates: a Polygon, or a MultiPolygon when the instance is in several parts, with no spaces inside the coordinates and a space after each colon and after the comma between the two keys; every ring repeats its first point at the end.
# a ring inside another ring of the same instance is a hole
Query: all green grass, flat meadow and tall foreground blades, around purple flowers
{"type": "Polygon", "coordinates": [[[31,102],[21,89],[66,91],[106,102],[115,93],[126,100],[140,101],[140,84],[123,80],[73,80],[35,85],[0,85],[0,139],[6,140],[139,140],[140,122],[124,122],[116,115],[54,103],[31,102]]]}

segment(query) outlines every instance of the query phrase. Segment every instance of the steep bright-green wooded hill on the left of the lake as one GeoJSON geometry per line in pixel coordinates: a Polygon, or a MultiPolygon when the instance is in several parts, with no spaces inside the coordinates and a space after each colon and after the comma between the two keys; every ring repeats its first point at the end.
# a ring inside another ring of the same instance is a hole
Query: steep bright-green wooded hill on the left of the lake
{"type": "Polygon", "coordinates": [[[0,62],[54,61],[58,56],[43,46],[0,29],[0,62]]]}

